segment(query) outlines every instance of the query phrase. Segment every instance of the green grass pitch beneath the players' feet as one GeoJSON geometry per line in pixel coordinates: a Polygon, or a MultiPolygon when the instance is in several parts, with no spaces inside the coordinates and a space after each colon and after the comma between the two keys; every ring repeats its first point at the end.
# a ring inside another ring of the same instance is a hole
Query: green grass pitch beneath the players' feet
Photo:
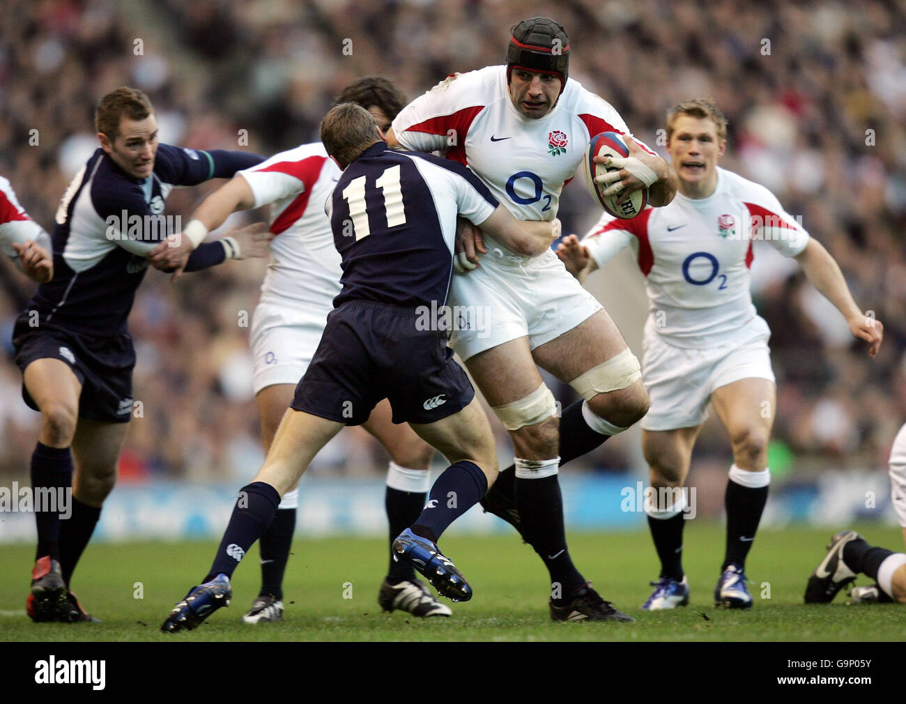
{"type": "MultiPolygon", "coordinates": [[[[898,605],[805,606],[805,580],[824,555],[827,530],[762,531],[747,575],[756,603],[748,612],[714,608],[712,592],[723,549],[723,529],[687,526],[684,564],[692,599],[674,612],[641,612],[656,576],[647,533],[573,534],[576,564],[604,598],[639,621],[553,623],[547,612],[545,572],[516,535],[450,536],[442,541],[475,590],[469,603],[451,604],[452,619],[421,620],[382,613],[375,597],[386,568],[379,539],[294,542],[286,575],[282,624],[239,622],[255,596],[257,549],[235,575],[233,605],[197,631],[164,635],[160,623],[172,604],[207,570],[216,545],[154,543],[92,545],[73,588],[101,624],[35,624],[24,615],[34,548],[0,548],[0,640],[4,641],[900,641],[906,609],[898,605]],[[143,599],[136,599],[136,583],[143,599]],[[351,583],[352,590],[344,584],[351,583]],[[769,583],[769,597],[766,583],[769,583]],[[352,598],[344,598],[344,593],[352,598]]],[[[901,549],[897,528],[863,526],[875,545],[901,549]]],[[[862,577],[859,583],[867,583],[862,577]]]]}

